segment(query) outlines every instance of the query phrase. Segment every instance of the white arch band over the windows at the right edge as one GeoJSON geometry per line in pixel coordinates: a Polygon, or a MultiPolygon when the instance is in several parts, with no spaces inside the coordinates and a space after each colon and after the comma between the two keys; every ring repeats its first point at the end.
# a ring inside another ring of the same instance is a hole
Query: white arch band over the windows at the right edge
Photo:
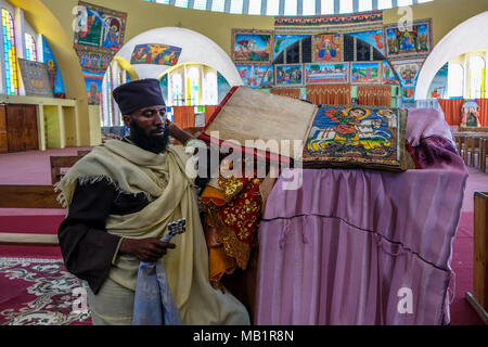
{"type": "Polygon", "coordinates": [[[436,44],[419,75],[415,100],[427,99],[428,88],[437,72],[458,55],[488,49],[488,11],[461,23],[436,44]]]}

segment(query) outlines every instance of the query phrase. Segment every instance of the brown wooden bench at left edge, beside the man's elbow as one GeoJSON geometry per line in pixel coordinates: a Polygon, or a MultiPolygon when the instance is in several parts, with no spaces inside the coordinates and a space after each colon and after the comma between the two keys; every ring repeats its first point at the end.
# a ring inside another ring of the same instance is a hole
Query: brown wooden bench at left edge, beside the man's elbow
{"type": "MultiPolygon", "coordinates": [[[[0,208],[62,208],[52,185],[0,185],[0,208]]],[[[1,231],[1,230],[0,230],[1,231]]],[[[57,234],[0,232],[1,245],[57,246],[57,234]]]]}

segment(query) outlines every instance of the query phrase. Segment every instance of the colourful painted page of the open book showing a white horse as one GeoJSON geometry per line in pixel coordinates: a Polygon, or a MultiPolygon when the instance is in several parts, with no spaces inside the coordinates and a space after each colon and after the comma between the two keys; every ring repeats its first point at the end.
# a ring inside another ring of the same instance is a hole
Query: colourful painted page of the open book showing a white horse
{"type": "Polygon", "coordinates": [[[321,107],[307,136],[304,167],[412,168],[406,153],[406,110],[321,107]]]}

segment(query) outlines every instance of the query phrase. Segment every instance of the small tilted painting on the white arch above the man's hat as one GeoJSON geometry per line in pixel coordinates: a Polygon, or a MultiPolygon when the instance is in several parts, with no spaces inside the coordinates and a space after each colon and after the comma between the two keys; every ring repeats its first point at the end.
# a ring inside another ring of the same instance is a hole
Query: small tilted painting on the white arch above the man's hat
{"type": "Polygon", "coordinates": [[[131,64],[155,64],[175,66],[181,54],[181,48],[162,44],[143,43],[134,47],[130,57],[131,64]]]}

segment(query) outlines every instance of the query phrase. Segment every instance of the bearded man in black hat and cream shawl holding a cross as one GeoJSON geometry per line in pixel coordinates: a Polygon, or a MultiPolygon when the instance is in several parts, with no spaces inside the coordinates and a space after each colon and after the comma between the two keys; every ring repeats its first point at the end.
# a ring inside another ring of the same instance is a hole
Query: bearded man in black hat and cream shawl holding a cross
{"type": "Polygon", "coordinates": [[[141,261],[162,261],[185,324],[248,324],[244,306],[208,280],[208,250],[198,215],[195,179],[187,162],[203,142],[166,119],[157,79],[113,92],[130,134],[94,147],[56,189],[68,214],[60,226],[69,272],[88,283],[94,324],[131,324],[141,261]],[[169,136],[184,143],[169,145],[169,136]],[[159,239],[171,221],[187,232],[159,239]]]}

